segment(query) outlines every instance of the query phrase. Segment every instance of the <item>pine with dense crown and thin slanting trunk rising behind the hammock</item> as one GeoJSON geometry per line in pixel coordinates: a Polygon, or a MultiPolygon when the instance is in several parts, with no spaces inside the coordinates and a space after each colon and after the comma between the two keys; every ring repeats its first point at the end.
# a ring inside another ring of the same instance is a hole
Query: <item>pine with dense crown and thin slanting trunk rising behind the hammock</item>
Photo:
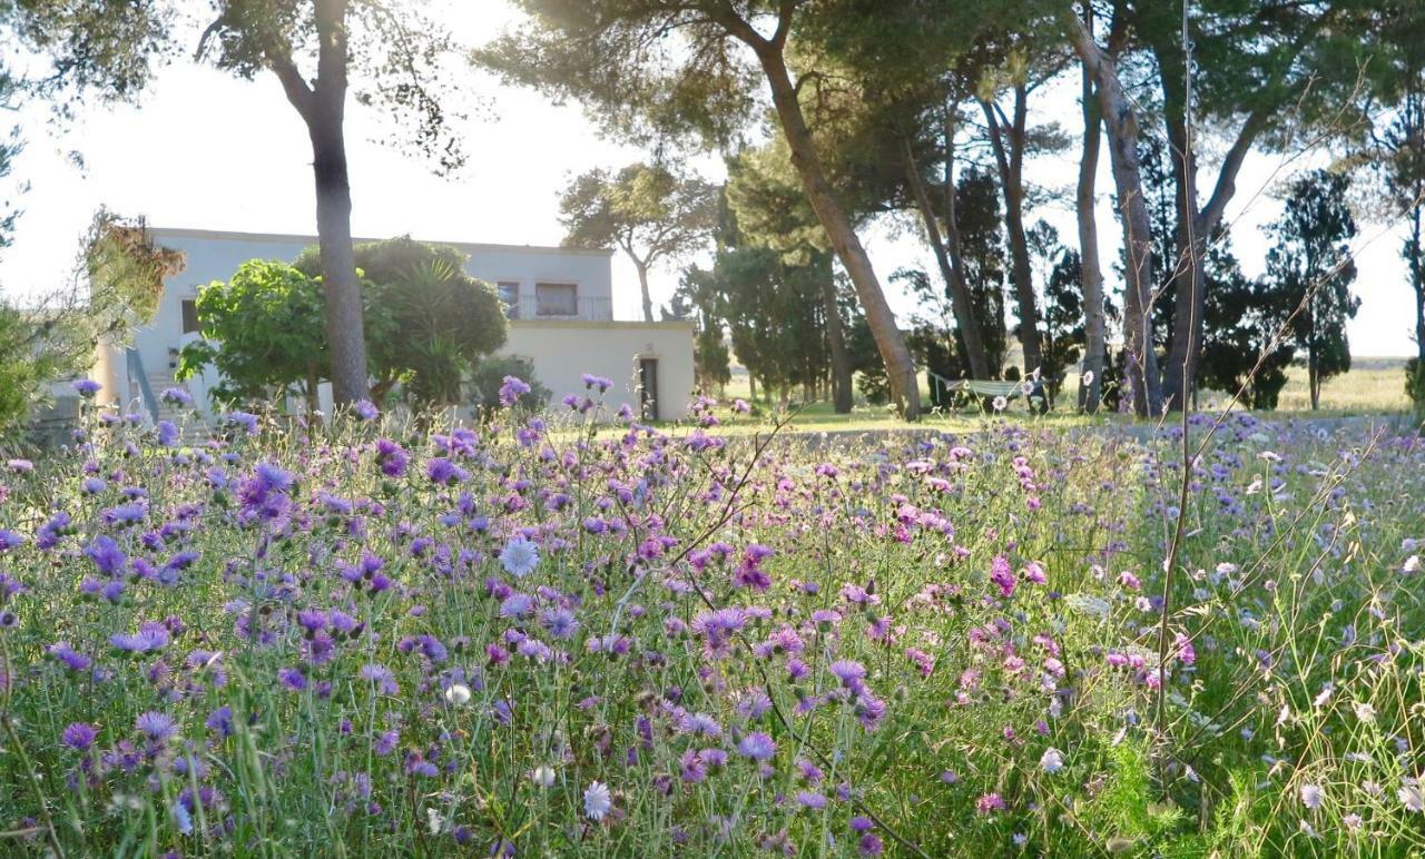
{"type": "Polygon", "coordinates": [[[982,37],[1005,16],[983,0],[831,0],[799,31],[801,81],[828,174],[858,214],[903,211],[935,255],[958,335],[958,375],[992,376],[965,281],[956,202],[962,105],[1003,38],[982,37]],[[848,194],[851,185],[851,194],[848,194]]]}

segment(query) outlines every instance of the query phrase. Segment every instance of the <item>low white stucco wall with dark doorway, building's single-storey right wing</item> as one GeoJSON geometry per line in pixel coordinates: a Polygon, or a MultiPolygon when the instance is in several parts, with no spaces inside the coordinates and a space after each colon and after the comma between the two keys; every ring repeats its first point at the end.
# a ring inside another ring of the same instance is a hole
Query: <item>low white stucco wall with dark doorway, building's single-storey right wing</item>
{"type": "Polygon", "coordinates": [[[581,376],[613,379],[610,409],[638,409],[638,359],[658,360],[658,417],[687,415],[693,393],[691,322],[563,322],[512,321],[502,355],[527,358],[539,382],[557,405],[567,393],[583,393],[581,376]]]}

